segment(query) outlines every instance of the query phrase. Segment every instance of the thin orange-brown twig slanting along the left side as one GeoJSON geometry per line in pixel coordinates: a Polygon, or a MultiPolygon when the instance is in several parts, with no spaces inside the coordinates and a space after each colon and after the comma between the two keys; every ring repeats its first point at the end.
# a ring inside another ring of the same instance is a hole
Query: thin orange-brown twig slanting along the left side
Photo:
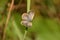
{"type": "Polygon", "coordinates": [[[14,4],[14,0],[12,0],[12,3],[10,5],[10,8],[9,8],[9,11],[8,11],[8,14],[7,14],[7,19],[6,19],[6,23],[5,23],[5,27],[4,27],[4,32],[3,32],[3,38],[2,38],[2,40],[5,40],[6,29],[7,29],[8,21],[10,19],[10,15],[11,15],[13,4],[14,4]]]}

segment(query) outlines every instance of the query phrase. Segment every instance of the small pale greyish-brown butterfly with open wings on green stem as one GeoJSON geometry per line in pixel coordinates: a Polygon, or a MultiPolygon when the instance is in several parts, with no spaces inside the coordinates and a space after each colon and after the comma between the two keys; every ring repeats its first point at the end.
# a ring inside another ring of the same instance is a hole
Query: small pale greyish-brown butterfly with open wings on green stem
{"type": "Polygon", "coordinates": [[[26,26],[26,27],[30,27],[30,26],[32,26],[33,18],[34,18],[34,12],[33,11],[29,11],[28,13],[23,13],[21,24],[26,26]]]}

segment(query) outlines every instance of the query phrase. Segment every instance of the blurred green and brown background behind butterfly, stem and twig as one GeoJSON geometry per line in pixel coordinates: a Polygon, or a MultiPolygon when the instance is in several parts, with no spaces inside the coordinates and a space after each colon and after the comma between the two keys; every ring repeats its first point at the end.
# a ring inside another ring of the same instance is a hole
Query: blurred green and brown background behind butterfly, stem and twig
{"type": "MultiPolygon", "coordinates": [[[[0,0],[0,40],[4,36],[9,3],[11,0],[0,0]]],[[[24,36],[21,16],[27,12],[27,0],[14,0],[13,8],[5,40],[20,40],[24,36]]],[[[35,16],[26,40],[60,40],[60,0],[31,0],[31,9],[35,16]]]]}

